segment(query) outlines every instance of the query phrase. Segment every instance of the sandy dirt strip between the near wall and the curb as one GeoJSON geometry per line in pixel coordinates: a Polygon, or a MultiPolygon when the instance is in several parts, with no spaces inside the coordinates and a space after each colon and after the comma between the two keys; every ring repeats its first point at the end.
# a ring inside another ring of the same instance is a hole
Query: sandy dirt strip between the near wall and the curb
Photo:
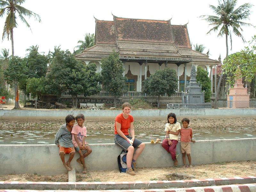
{"type": "MultiPolygon", "coordinates": [[[[194,165],[193,168],[139,168],[136,175],[111,171],[89,171],[77,173],[76,181],[147,181],[147,180],[189,180],[235,176],[256,176],[256,161],[230,162],[194,165]],[[172,173],[177,173],[174,176],[172,173]]],[[[52,181],[67,182],[68,173],[45,176],[35,174],[0,175],[0,181],[52,181]]]]}

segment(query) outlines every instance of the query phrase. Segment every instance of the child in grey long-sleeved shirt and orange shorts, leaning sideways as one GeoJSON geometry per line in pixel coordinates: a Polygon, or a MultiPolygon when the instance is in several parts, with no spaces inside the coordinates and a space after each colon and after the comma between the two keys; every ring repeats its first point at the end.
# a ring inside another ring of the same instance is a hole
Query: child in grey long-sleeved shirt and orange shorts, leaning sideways
{"type": "Polygon", "coordinates": [[[74,145],[72,143],[72,134],[71,134],[72,127],[75,124],[75,117],[73,115],[67,115],[65,120],[66,120],[66,124],[62,125],[59,131],[56,133],[54,143],[58,145],[58,147],[60,148],[60,151],[59,151],[60,159],[64,167],[68,171],[71,171],[72,168],[70,166],[70,162],[73,159],[76,152],[74,145]],[[67,163],[65,162],[65,154],[70,154],[67,163]]]}

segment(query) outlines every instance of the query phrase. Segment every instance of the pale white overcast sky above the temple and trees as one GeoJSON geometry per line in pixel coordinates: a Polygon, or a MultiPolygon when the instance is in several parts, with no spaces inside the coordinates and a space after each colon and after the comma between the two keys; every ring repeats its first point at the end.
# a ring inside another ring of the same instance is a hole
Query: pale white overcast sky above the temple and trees
{"type": "MultiPolygon", "coordinates": [[[[244,22],[256,26],[256,1],[237,0],[237,7],[250,3],[250,20],[244,22]]],[[[26,18],[31,30],[18,19],[18,28],[14,29],[14,54],[25,57],[28,49],[32,45],[39,46],[39,52],[48,54],[53,51],[54,46],[59,46],[62,50],[73,52],[78,45],[77,41],[84,40],[86,33],[95,33],[95,18],[99,20],[113,20],[113,15],[123,18],[171,20],[173,25],[184,25],[188,23],[188,34],[190,43],[203,44],[209,49],[209,57],[218,60],[219,55],[223,60],[226,56],[225,36],[218,37],[217,32],[206,34],[211,26],[201,15],[215,15],[209,8],[209,4],[217,6],[218,0],[158,0],[158,1],[85,1],[85,0],[26,0],[22,4],[26,9],[35,12],[41,17],[41,23],[34,18],[26,18]],[[112,15],[113,14],[113,15],[112,15]]],[[[0,18],[1,37],[3,33],[5,15],[0,18]]],[[[247,43],[243,43],[241,38],[232,34],[232,50],[229,54],[241,51],[244,46],[248,46],[248,41],[256,34],[254,27],[242,27],[243,36],[247,43]]],[[[228,42],[230,42],[228,40],[228,42]]],[[[193,48],[192,45],[192,48],[193,48]]],[[[11,41],[4,39],[0,41],[0,50],[9,49],[12,54],[11,41]]],[[[0,52],[1,54],[1,52],[0,52]]]]}

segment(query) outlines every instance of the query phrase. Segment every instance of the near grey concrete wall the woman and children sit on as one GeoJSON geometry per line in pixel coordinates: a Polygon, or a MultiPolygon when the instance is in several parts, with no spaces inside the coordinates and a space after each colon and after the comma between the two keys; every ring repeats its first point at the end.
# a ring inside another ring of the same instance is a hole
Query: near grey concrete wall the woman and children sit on
{"type": "MultiPolygon", "coordinates": [[[[117,156],[121,148],[115,144],[90,144],[92,154],[85,158],[88,170],[118,171],[117,156]]],[[[256,160],[256,138],[201,140],[191,143],[192,164],[210,164],[216,162],[256,160]]],[[[56,145],[0,145],[0,174],[37,173],[54,175],[67,172],[61,163],[56,145]]],[[[177,145],[180,153],[180,143],[177,145]]],[[[66,156],[68,158],[68,155],[66,156]]],[[[76,162],[76,153],[72,167],[82,171],[76,162]]],[[[178,157],[182,165],[182,155],[178,157]]],[[[139,167],[170,167],[173,161],[161,144],[146,143],[146,148],[137,160],[139,167]]]]}

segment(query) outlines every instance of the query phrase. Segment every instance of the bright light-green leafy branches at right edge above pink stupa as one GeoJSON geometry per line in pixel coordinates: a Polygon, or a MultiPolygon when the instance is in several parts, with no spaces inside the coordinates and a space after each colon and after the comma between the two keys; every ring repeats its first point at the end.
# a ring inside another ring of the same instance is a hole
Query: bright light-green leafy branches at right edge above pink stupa
{"type": "Polygon", "coordinates": [[[244,77],[245,81],[251,82],[256,75],[256,35],[251,41],[251,47],[245,47],[240,52],[233,53],[224,60],[222,68],[228,76],[228,81],[232,85],[235,78],[244,77]],[[254,43],[254,44],[253,44],[254,43]]]}

